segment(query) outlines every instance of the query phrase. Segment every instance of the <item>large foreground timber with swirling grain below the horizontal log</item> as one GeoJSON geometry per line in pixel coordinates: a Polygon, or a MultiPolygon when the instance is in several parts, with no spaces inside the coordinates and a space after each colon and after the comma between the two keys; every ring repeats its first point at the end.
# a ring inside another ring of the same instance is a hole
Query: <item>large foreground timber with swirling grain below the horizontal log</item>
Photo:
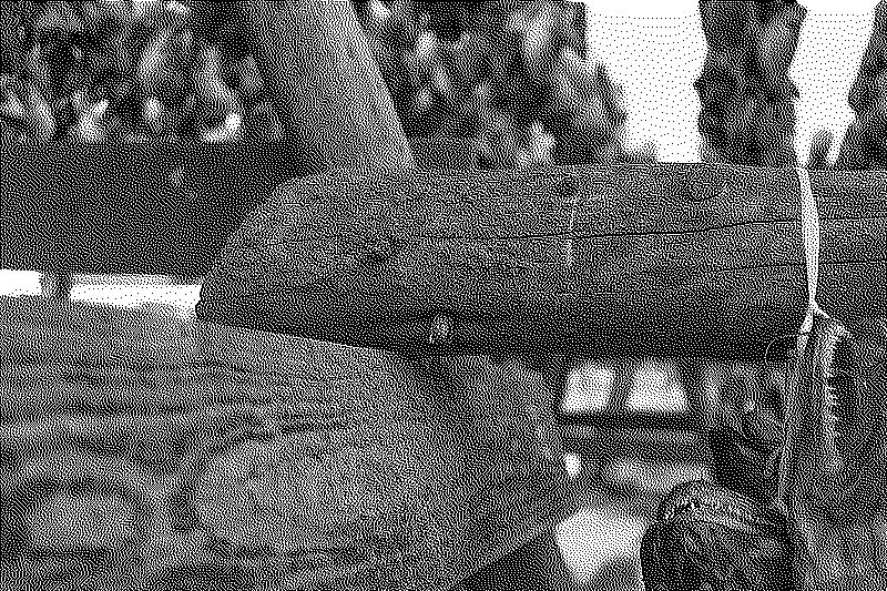
{"type": "Polygon", "coordinates": [[[431,589],[563,501],[536,434],[552,393],[513,363],[462,358],[441,389],[379,351],[0,303],[4,581],[177,589],[228,572],[223,589],[288,589],[350,560],[354,589],[431,589]]]}

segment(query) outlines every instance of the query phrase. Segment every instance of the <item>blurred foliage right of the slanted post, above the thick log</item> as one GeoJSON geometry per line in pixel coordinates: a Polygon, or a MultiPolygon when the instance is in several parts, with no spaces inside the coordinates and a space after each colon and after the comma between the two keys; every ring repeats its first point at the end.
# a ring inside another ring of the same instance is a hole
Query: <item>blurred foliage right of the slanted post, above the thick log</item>
{"type": "Polygon", "coordinates": [[[648,161],[628,154],[619,89],[583,58],[577,4],[357,2],[405,130],[470,137],[481,165],[648,161]]]}

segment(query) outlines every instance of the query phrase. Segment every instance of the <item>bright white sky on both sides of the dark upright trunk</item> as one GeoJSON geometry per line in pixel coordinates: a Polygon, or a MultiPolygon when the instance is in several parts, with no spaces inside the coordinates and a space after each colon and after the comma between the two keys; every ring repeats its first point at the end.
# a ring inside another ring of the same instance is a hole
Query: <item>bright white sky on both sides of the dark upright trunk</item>
{"type": "MultiPolygon", "coordinates": [[[[652,141],[660,161],[699,162],[700,102],[693,82],[706,45],[697,0],[580,3],[587,6],[589,57],[604,63],[623,89],[628,146],[652,141]]],[[[799,162],[806,163],[813,135],[832,131],[834,161],[854,118],[847,95],[871,34],[877,1],[801,4],[807,17],[789,72],[801,92],[795,147],[799,162]]]]}

